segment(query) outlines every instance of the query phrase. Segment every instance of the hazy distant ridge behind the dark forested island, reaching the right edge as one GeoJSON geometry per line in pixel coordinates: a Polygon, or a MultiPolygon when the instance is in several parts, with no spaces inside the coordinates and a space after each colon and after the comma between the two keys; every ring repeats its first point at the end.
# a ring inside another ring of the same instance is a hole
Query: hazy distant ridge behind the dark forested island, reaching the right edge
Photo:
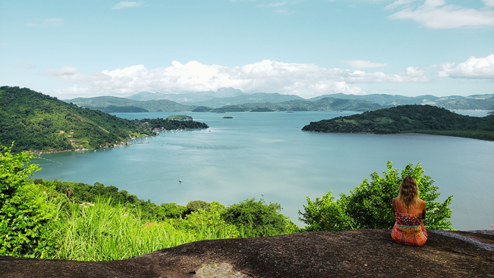
{"type": "Polygon", "coordinates": [[[336,93],[332,95],[320,95],[313,97],[309,101],[320,100],[324,97],[336,97],[344,100],[368,100],[384,106],[397,106],[407,104],[429,104],[433,106],[447,107],[449,109],[494,109],[482,108],[490,107],[490,104],[484,104],[482,100],[488,100],[494,97],[494,94],[489,95],[470,95],[462,97],[460,95],[450,95],[447,97],[435,97],[434,95],[419,95],[417,97],[405,97],[403,95],[386,95],[386,94],[371,94],[371,95],[345,95],[336,93]],[[460,100],[471,100],[471,102],[457,102],[460,100]],[[475,102],[474,100],[479,100],[475,102]],[[446,104],[447,103],[447,104],[446,104]],[[478,106],[475,106],[478,104],[478,106]]]}

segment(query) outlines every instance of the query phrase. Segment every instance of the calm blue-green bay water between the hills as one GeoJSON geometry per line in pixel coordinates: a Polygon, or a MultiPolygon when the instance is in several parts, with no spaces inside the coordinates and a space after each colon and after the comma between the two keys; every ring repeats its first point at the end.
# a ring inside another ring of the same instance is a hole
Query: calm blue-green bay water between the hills
{"type": "MultiPolygon", "coordinates": [[[[142,119],[173,113],[117,113],[142,119]]],[[[421,163],[446,196],[455,195],[456,229],[494,224],[494,142],[434,135],[302,132],[310,121],[353,112],[187,113],[207,130],[149,137],[127,148],[44,154],[36,178],[115,185],[158,205],[190,200],[224,205],[246,198],[278,202],[298,222],[298,209],[327,194],[348,193],[386,161],[402,170],[421,163]],[[222,119],[225,115],[233,119],[222,119]],[[181,179],[183,182],[179,183],[181,179]],[[264,194],[263,196],[261,194],[264,194]]]]}

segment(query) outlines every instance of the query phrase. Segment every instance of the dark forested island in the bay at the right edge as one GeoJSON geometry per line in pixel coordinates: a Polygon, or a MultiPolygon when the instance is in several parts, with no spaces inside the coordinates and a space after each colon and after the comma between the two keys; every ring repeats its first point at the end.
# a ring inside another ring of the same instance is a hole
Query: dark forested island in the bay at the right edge
{"type": "Polygon", "coordinates": [[[403,105],[334,119],[312,121],[312,132],[427,133],[494,140],[494,115],[469,117],[430,105],[403,105]]]}

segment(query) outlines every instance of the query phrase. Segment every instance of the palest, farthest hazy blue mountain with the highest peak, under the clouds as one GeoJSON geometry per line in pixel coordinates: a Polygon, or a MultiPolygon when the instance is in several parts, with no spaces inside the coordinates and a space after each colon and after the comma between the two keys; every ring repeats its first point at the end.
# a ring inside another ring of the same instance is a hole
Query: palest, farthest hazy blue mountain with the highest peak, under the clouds
{"type": "Polygon", "coordinates": [[[211,100],[214,97],[236,97],[238,95],[247,95],[242,93],[242,91],[233,88],[222,88],[217,91],[204,91],[197,93],[150,93],[141,92],[136,95],[130,95],[129,100],[171,100],[173,102],[180,102],[187,104],[189,102],[204,102],[206,100],[211,100]]]}

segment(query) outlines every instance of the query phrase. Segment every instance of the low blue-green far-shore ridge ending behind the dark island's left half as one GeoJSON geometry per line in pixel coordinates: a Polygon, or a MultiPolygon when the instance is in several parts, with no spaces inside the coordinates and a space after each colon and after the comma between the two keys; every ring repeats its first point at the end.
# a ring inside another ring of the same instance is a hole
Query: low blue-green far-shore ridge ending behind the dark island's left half
{"type": "Polygon", "coordinates": [[[384,108],[374,102],[365,100],[341,100],[337,98],[326,97],[315,102],[308,100],[289,100],[279,103],[247,103],[239,105],[223,106],[215,108],[211,112],[256,112],[256,111],[372,111],[384,108]]]}

